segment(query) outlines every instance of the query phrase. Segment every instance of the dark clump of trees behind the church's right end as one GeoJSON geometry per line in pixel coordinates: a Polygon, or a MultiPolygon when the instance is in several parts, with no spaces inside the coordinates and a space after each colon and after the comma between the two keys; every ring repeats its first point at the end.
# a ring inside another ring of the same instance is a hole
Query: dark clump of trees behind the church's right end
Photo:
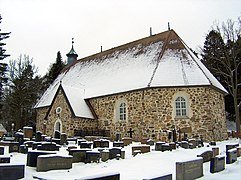
{"type": "Polygon", "coordinates": [[[237,132],[240,132],[241,106],[240,25],[235,28],[235,22],[228,20],[221,28],[216,26],[206,36],[202,54],[203,63],[230,93],[226,96],[226,110],[234,113],[237,132]]]}

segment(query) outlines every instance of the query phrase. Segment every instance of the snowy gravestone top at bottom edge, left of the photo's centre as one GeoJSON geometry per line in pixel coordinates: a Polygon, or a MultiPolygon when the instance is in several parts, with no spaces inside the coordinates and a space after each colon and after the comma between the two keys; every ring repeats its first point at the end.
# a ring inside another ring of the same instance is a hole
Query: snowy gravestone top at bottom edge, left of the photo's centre
{"type": "Polygon", "coordinates": [[[104,173],[104,174],[97,174],[94,176],[86,176],[76,180],[120,180],[120,173],[113,172],[113,173],[104,173]]]}

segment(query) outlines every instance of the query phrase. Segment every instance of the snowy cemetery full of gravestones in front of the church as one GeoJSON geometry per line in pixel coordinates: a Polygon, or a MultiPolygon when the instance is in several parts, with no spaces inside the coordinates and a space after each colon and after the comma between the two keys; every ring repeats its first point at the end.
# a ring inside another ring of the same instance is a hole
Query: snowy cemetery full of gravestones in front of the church
{"type": "Polygon", "coordinates": [[[70,175],[73,178],[70,179],[117,180],[136,176],[137,179],[184,180],[206,177],[207,173],[210,176],[215,175],[241,161],[239,139],[231,138],[233,143],[227,141],[221,146],[221,142],[203,142],[201,138],[189,139],[183,134],[178,134],[178,138],[170,136],[165,142],[149,138],[136,142],[131,137],[121,138],[119,135],[115,141],[110,141],[108,137],[67,137],[58,132],[54,137],[48,137],[40,131],[34,133],[31,128],[24,129],[11,137],[6,134],[1,137],[0,179],[6,179],[6,175],[7,179],[61,179],[61,174],[64,177],[64,173],[73,170],[70,175]],[[185,154],[191,155],[185,157],[185,154]],[[172,155],[176,159],[167,159],[172,155]],[[19,156],[24,157],[23,161],[17,160],[19,156]],[[154,162],[153,157],[156,157],[155,165],[151,167],[149,161],[154,162]],[[111,168],[112,164],[118,167],[118,164],[123,163],[128,167],[128,161],[138,162],[141,159],[144,159],[144,163],[130,165],[130,171],[135,166],[142,165],[146,167],[144,174],[133,174],[133,169],[131,175],[126,177],[123,167],[111,168]],[[157,165],[170,162],[175,167],[172,171],[157,165]],[[77,167],[94,167],[94,171],[86,174],[74,173],[77,167]]]}

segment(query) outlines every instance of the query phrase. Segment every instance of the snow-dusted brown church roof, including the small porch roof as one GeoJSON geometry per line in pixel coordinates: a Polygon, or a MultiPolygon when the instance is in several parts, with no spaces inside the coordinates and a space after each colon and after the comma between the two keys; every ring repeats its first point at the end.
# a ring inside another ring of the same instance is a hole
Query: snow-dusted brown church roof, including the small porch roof
{"type": "Polygon", "coordinates": [[[142,88],[210,85],[227,93],[173,30],[76,61],[58,76],[35,108],[51,105],[60,82],[75,115],[89,118],[93,115],[85,99],[142,88]]]}

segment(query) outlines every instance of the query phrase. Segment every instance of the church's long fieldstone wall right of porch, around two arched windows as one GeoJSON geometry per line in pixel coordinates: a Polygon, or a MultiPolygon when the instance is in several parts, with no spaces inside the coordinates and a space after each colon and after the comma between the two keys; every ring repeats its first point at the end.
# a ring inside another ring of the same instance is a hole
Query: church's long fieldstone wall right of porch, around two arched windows
{"type": "MultiPolygon", "coordinates": [[[[187,132],[188,137],[200,136],[206,141],[227,138],[224,96],[210,87],[151,88],[90,100],[98,116],[99,128],[109,129],[112,139],[116,133],[133,138],[143,137],[168,140],[174,128],[187,132]],[[175,98],[185,96],[188,104],[186,117],[175,117],[175,98]],[[127,103],[127,121],[119,121],[116,103],[127,103]]],[[[183,133],[181,134],[183,135],[183,133]]]]}

